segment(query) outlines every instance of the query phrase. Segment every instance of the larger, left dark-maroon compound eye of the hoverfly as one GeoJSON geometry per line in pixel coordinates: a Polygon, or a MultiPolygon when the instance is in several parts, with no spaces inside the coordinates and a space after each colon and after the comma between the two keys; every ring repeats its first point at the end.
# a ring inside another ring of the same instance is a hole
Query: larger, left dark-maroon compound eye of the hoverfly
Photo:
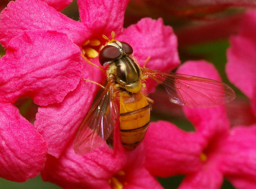
{"type": "Polygon", "coordinates": [[[121,55],[121,52],[118,48],[107,45],[99,52],[99,63],[103,66],[105,62],[113,61],[121,55]]]}

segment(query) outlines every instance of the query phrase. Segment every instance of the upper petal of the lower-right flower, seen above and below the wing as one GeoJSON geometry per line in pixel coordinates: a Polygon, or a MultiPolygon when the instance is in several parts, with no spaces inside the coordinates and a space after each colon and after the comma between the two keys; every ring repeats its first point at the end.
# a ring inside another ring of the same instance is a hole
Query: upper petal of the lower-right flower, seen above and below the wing
{"type": "MultiPolygon", "coordinates": [[[[187,61],[178,68],[177,73],[221,80],[215,67],[206,61],[187,61]]],[[[230,123],[224,105],[213,108],[184,107],[183,110],[196,130],[202,131],[208,137],[229,129],[230,123]]]]}

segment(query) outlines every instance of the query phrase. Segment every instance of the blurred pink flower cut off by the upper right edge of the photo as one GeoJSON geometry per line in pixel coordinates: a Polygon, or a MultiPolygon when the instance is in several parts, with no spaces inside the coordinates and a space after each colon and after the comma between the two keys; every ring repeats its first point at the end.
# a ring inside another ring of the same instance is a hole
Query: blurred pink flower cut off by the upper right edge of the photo
{"type": "Polygon", "coordinates": [[[251,101],[256,116],[256,11],[247,12],[241,20],[239,34],[230,37],[227,50],[228,79],[251,101]]]}

